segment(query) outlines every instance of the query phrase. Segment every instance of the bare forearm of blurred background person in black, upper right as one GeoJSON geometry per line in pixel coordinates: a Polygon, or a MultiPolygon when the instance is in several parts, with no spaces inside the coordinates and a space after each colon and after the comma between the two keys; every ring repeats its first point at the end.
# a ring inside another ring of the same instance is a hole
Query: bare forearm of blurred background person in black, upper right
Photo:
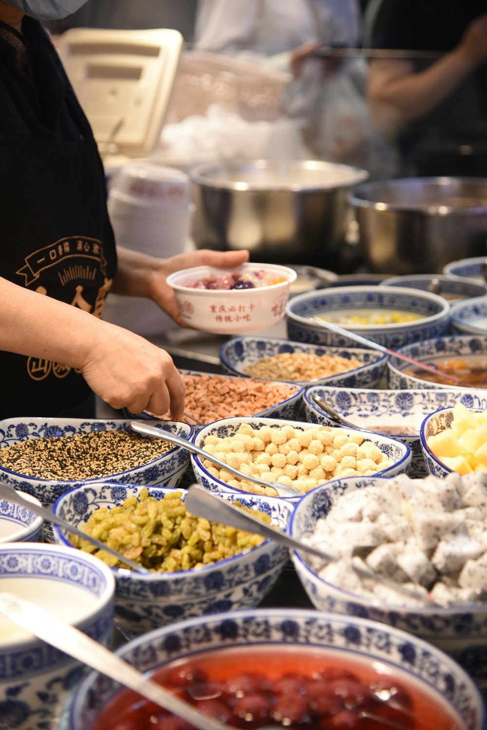
{"type": "Polygon", "coordinates": [[[373,62],[377,64],[377,74],[371,67],[369,99],[372,103],[394,107],[400,112],[402,122],[410,122],[435,109],[472,73],[469,59],[457,50],[447,53],[425,71],[384,79],[380,64],[390,63],[373,62]]]}

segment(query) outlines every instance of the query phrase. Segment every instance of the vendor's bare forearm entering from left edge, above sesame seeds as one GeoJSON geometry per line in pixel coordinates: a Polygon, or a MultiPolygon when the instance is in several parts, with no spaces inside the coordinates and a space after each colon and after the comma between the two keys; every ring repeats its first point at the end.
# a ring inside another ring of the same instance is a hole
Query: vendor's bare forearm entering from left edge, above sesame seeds
{"type": "Polygon", "coordinates": [[[0,350],[81,368],[104,326],[93,315],[0,278],[0,350]]]}

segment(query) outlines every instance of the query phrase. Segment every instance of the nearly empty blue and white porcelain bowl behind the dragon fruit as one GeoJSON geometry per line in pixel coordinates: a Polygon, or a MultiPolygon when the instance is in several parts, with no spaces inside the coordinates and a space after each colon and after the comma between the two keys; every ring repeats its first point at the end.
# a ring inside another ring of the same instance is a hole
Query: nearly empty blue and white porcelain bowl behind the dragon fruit
{"type": "Polygon", "coordinates": [[[371,391],[348,390],[348,388],[326,388],[316,385],[305,391],[304,407],[306,420],[310,423],[322,423],[324,426],[338,426],[313,401],[313,396],[319,396],[330,404],[343,418],[355,423],[359,428],[369,429],[371,426],[405,426],[405,431],[415,429],[415,435],[400,431],[389,435],[408,445],[411,450],[411,466],[408,476],[413,478],[426,477],[428,470],[424,464],[419,429],[426,415],[437,408],[454,405],[456,402],[472,404],[480,409],[487,408],[487,391],[468,391],[463,393],[453,390],[426,391],[371,391]]]}

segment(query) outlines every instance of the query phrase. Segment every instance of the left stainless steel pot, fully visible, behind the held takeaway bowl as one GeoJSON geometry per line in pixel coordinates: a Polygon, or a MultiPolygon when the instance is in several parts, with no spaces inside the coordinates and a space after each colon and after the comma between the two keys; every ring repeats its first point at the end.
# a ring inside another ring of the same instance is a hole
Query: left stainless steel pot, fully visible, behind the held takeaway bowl
{"type": "Polygon", "coordinates": [[[248,248],[254,261],[321,265],[343,242],[352,185],[368,173],[320,161],[249,161],[193,169],[198,248],[248,248]]]}

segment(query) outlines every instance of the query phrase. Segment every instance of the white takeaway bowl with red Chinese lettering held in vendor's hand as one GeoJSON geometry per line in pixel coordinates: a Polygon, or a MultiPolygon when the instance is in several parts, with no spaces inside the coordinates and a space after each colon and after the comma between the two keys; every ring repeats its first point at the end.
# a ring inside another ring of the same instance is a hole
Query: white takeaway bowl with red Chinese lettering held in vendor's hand
{"type": "Polygon", "coordinates": [[[210,274],[222,274],[214,266],[195,266],[170,274],[166,283],[174,289],[184,323],[194,329],[216,334],[240,334],[270,327],[284,317],[289,286],[297,274],[277,264],[243,264],[230,272],[263,269],[285,281],[253,289],[194,289],[192,284],[210,274]]]}

